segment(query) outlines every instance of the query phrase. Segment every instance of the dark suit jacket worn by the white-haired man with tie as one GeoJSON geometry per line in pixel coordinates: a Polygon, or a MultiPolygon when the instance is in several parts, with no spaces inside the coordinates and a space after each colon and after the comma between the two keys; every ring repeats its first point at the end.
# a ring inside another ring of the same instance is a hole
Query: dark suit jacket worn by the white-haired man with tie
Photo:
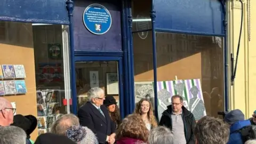
{"type": "Polygon", "coordinates": [[[107,135],[115,132],[115,123],[111,121],[106,106],[100,106],[105,117],[92,105],[91,102],[85,103],[78,110],[80,125],[87,126],[98,138],[99,143],[106,143],[107,135]]]}

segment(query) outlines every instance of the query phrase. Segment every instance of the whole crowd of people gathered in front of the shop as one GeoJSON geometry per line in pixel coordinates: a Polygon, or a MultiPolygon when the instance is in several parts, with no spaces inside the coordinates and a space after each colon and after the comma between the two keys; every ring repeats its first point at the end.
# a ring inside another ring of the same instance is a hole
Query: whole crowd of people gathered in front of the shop
{"type": "Polygon", "coordinates": [[[195,121],[193,114],[183,106],[180,95],[172,96],[172,103],[163,112],[159,123],[153,106],[142,98],[134,113],[121,120],[114,97],[105,97],[99,87],[87,92],[88,101],[78,110],[78,115],[59,117],[51,132],[41,134],[36,141],[30,134],[36,129],[35,116],[15,115],[15,108],[0,97],[1,144],[252,144],[256,143],[253,117],[245,120],[241,110],[226,113],[224,119],[204,116],[195,121]],[[247,133],[246,133],[247,132],[247,133]]]}

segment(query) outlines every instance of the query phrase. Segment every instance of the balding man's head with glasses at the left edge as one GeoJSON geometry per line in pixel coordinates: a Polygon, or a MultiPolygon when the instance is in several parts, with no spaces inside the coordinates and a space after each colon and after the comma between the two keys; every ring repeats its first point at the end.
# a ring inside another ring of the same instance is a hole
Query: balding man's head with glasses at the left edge
{"type": "Polygon", "coordinates": [[[0,97],[0,125],[9,126],[12,124],[15,110],[16,109],[12,107],[11,102],[3,97],[0,97]]]}

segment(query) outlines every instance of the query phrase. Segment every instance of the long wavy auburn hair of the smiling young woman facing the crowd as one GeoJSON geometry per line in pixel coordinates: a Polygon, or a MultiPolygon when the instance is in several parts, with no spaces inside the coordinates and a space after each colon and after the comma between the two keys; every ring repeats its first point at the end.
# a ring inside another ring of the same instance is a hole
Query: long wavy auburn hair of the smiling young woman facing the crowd
{"type": "Polygon", "coordinates": [[[152,106],[152,103],[149,99],[146,99],[146,98],[142,98],[139,102],[136,103],[136,106],[135,106],[135,111],[134,113],[135,114],[138,114],[138,115],[141,115],[141,111],[140,111],[140,107],[141,107],[141,104],[143,101],[147,101],[149,102],[149,110],[148,110],[148,119],[149,119],[149,122],[150,124],[152,125],[153,128],[157,127],[157,122],[156,122],[156,117],[153,113],[153,106],[152,106]]]}

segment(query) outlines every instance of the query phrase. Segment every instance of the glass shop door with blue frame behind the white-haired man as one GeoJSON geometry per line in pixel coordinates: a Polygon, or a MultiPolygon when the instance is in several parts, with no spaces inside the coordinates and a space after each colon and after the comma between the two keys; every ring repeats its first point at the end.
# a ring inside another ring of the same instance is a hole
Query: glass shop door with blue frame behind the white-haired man
{"type": "Polygon", "coordinates": [[[104,58],[86,59],[77,58],[76,71],[76,104],[77,110],[87,102],[87,92],[92,87],[100,87],[105,91],[106,97],[114,97],[119,113],[123,118],[123,72],[122,59],[104,58]]]}

